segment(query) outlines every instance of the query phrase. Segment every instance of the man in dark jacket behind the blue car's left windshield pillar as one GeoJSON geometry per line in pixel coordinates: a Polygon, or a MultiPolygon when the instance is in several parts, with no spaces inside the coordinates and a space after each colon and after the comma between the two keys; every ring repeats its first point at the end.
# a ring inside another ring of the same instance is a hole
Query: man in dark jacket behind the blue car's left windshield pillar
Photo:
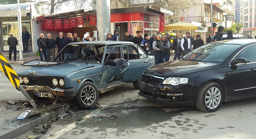
{"type": "MultiPolygon", "coordinates": [[[[64,39],[63,45],[66,46],[67,44],[72,43],[72,42],[73,42],[72,41],[72,33],[67,33],[67,38],[64,39]]],[[[75,52],[74,46],[66,47],[66,49],[64,50],[64,54],[65,54],[64,59],[65,60],[74,59],[75,58],[74,52],[75,52]]]]}

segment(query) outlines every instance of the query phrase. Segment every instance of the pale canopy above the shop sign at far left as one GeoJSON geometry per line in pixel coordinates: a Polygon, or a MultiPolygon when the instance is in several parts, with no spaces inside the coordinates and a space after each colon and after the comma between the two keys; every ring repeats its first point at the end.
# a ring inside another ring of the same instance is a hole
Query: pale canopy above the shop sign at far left
{"type": "MultiPolygon", "coordinates": [[[[35,4],[36,2],[27,2],[27,3],[20,3],[20,9],[21,9],[21,16],[26,16],[26,8],[28,8],[30,5],[35,4]]],[[[5,4],[0,5],[0,17],[17,17],[18,16],[18,4],[5,4]]]]}

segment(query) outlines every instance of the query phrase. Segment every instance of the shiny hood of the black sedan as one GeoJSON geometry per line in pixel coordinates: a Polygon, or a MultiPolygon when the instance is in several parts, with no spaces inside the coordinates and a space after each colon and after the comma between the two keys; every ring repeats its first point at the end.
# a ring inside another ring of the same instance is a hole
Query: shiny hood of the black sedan
{"type": "Polygon", "coordinates": [[[197,61],[173,60],[152,66],[145,71],[150,75],[161,77],[183,76],[198,71],[210,70],[221,67],[220,63],[205,63],[197,61]]]}

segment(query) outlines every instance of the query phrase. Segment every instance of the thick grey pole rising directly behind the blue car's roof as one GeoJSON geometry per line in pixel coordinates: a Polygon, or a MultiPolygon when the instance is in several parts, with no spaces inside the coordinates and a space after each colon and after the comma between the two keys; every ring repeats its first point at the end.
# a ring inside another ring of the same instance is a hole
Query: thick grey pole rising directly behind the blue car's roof
{"type": "Polygon", "coordinates": [[[110,28],[110,0],[96,0],[99,41],[105,41],[110,28]]]}

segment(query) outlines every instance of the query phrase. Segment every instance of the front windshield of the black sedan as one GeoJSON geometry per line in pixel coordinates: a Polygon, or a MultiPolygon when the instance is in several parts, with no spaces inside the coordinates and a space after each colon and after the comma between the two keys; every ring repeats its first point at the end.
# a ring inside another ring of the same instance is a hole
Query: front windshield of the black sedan
{"type": "Polygon", "coordinates": [[[183,56],[189,61],[221,63],[241,45],[235,44],[206,44],[183,56]]]}

